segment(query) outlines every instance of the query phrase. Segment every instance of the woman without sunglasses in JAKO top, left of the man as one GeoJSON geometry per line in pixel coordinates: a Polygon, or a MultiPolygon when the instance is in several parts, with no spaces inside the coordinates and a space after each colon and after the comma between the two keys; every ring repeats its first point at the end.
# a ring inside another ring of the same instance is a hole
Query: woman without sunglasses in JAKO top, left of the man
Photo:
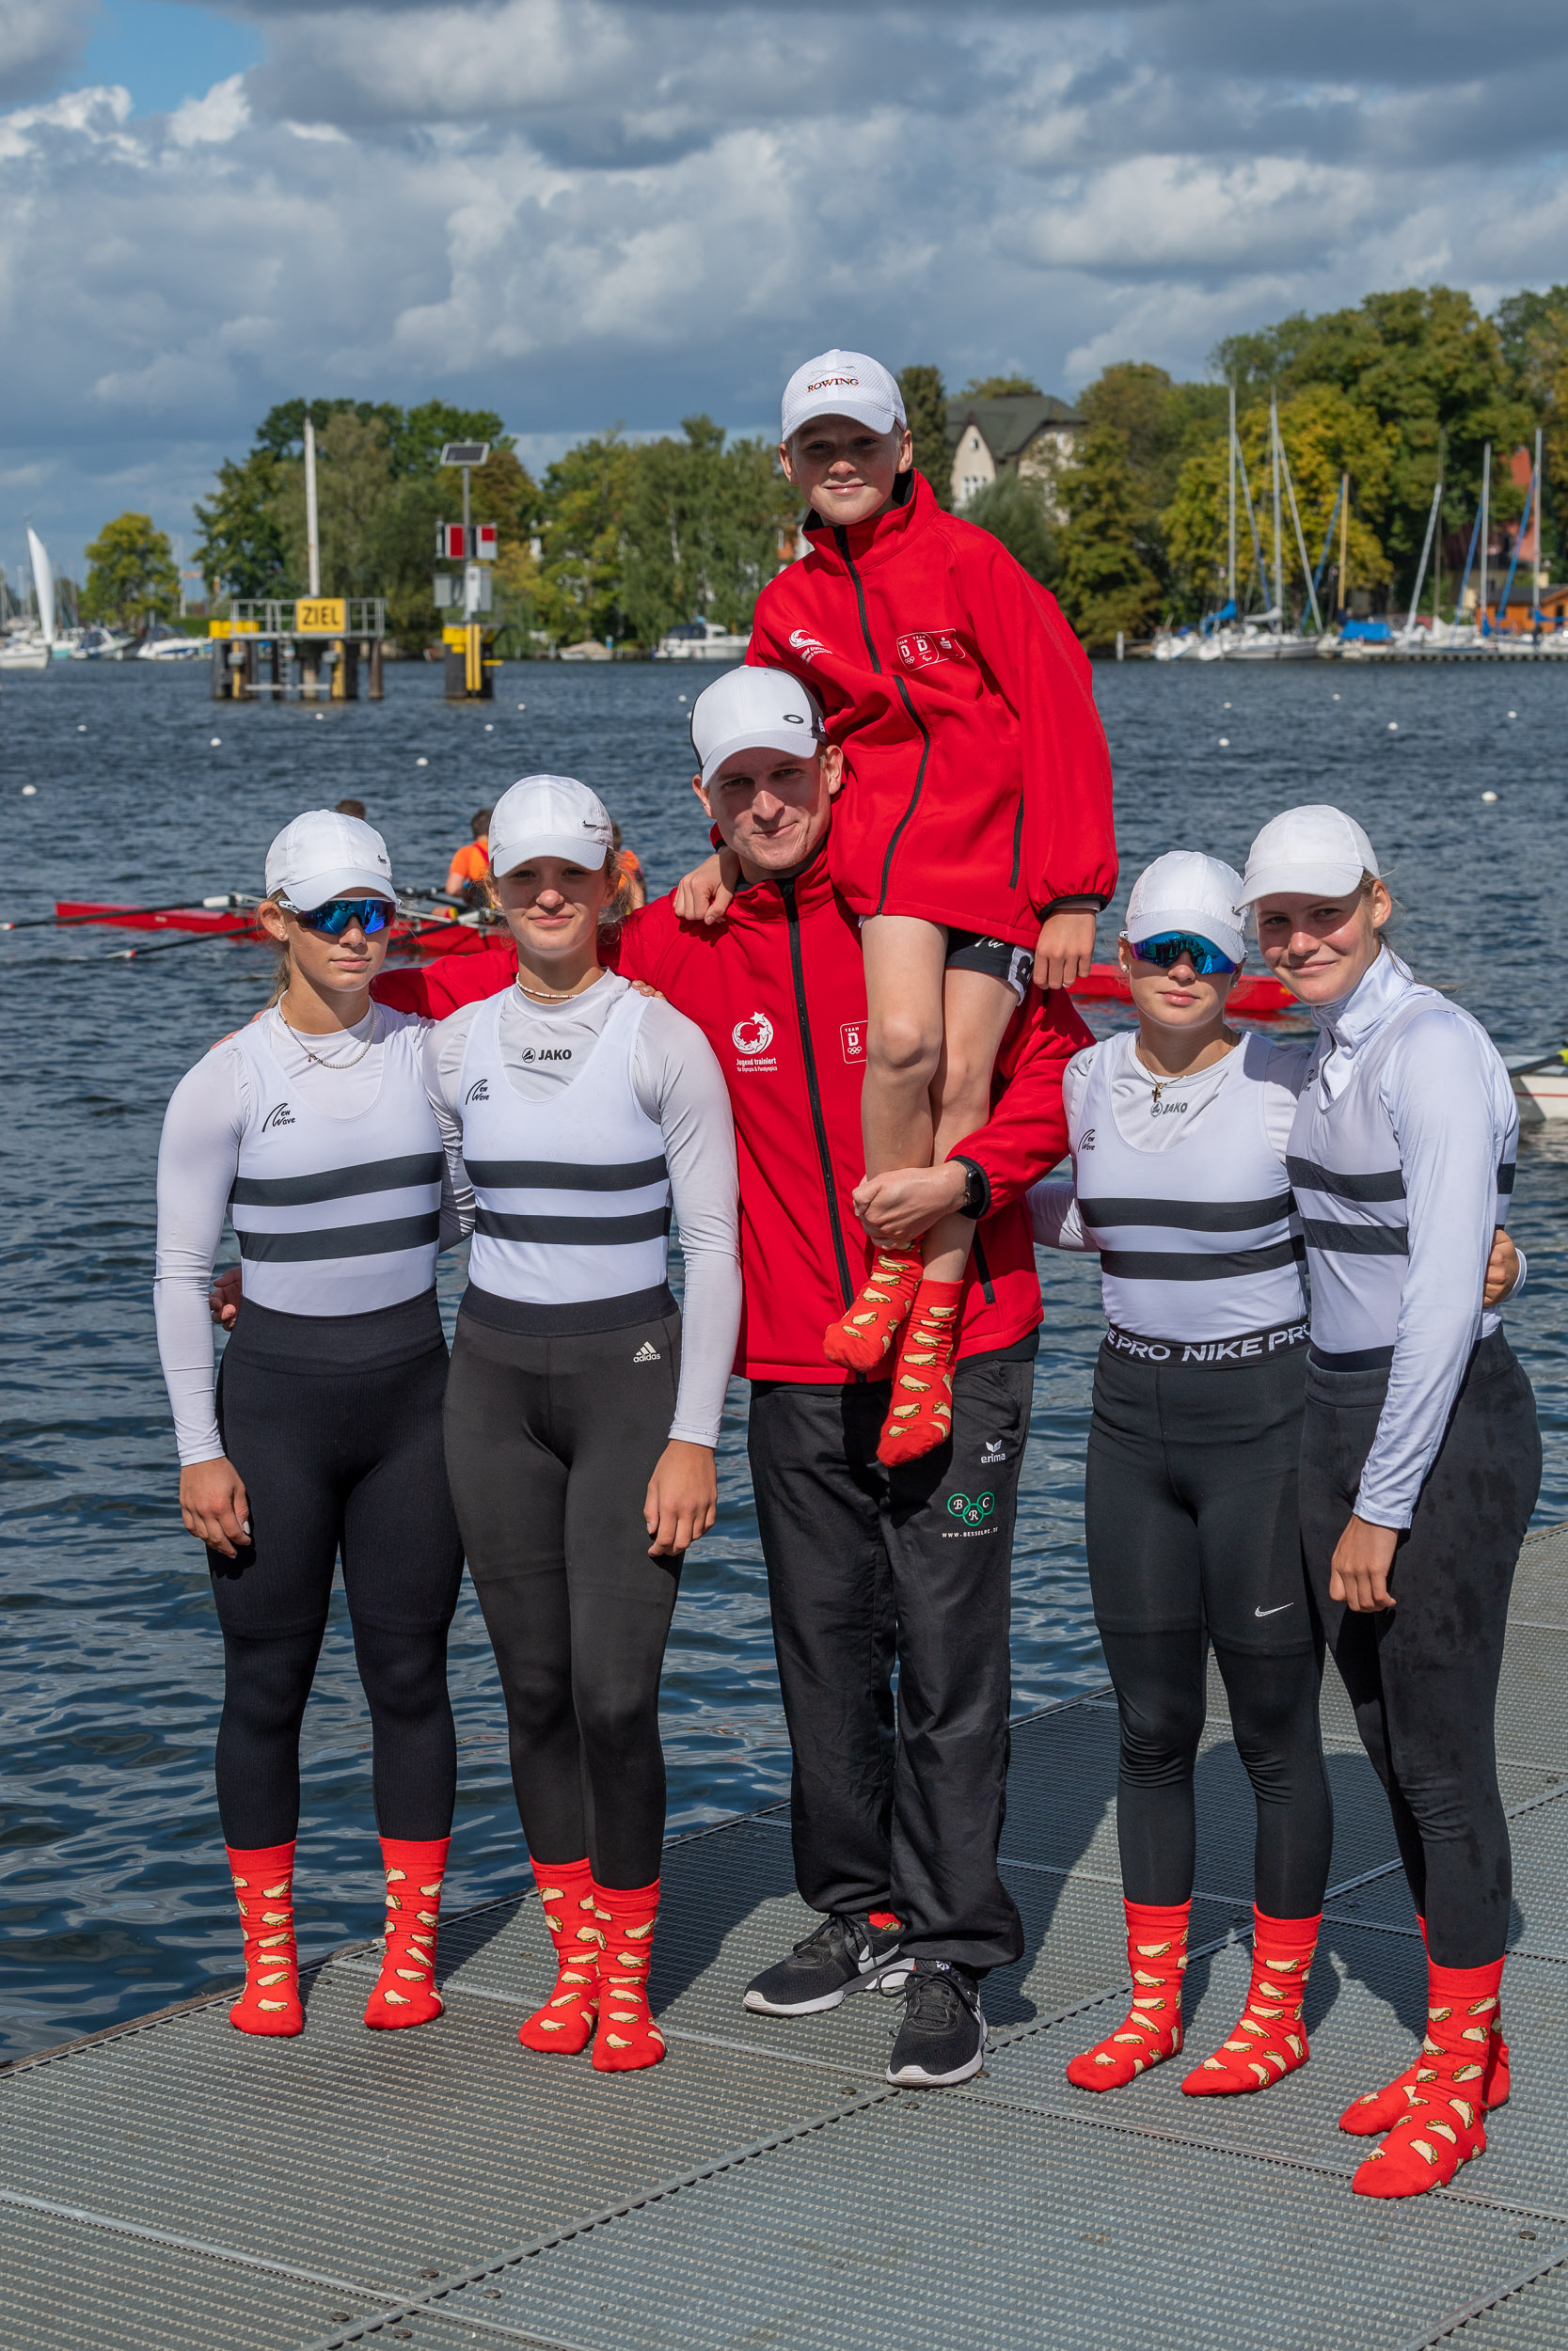
{"type": "Polygon", "coordinates": [[[447,1465],[505,1690],[512,1784],[557,1949],[522,2043],[658,2064],[646,2005],[682,1554],[715,1519],[741,1326],[736,1138],[703,1032],[597,959],[611,820],[527,776],[489,825],[517,980],[425,1046],[475,1239],[447,1465]],[[470,1190],[468,1190],[470,1187],[470,1190]],[[670,1213],[684,1321],[665,1281],[670,1213]]]}

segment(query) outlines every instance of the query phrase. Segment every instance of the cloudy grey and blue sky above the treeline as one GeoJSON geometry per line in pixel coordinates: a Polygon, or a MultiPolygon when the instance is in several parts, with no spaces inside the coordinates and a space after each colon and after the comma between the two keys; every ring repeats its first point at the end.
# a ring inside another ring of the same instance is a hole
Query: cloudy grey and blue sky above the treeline
{"type": "Polygon", "coordinates": [[[1561,0],[0,0],[0,560],[190,531],[292,393],[776,416],[825,343],[1201,371],[1568,277],[1561,0]]]}

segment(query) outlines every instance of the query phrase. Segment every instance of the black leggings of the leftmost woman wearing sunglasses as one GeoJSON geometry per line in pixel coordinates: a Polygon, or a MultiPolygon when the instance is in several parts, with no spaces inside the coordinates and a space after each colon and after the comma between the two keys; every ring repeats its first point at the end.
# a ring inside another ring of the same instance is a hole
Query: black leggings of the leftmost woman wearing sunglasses
{"type": "Polygon", "coordinates": [[[240,1307],[219,1429],[254,1540],[235,1559],[207,1552],[223,1627],[216,1780],[230,1846],[284,1846],[299,1829],[299,1726],[339,1552],[376,1824],[414,1838],[451,1829],[447,1627],[463,1545],[442,1460],[444,1385],[435,1291],[376,1314],[240,1307]]]}

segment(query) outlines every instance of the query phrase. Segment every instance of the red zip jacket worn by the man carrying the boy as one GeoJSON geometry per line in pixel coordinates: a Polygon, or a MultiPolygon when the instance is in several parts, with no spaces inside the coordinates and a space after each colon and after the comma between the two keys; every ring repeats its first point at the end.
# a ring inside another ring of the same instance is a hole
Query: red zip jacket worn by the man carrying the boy
{"type": "MultiPolygon", "coordinates": [[[[630,915],[607,962],[646,980],[703,1030],[729,1079],[741,1152],[745,1312],[736,1371],[750,1380],[839,1387],[823,1331],[870,1270],[849,1194],[860,1180],[865,966],[856,917],[818,853],[795,882],[743,889],[715,929],[682,924],[670,898],[630,915]]],[[[383,973],[376,997],[442,1020],[508,987],[510,940],[383,973]]],[[[1067,1150],[1063,1070],[1088,1030],[1065,994],[1027,1002],[1009,1027],[994,1110],[954,1157],[990,1183],[964,1284],[959,1354],[1011,1347],[1039,1326],[1039,1277],[1023,1194],[1067,1150]]]]}

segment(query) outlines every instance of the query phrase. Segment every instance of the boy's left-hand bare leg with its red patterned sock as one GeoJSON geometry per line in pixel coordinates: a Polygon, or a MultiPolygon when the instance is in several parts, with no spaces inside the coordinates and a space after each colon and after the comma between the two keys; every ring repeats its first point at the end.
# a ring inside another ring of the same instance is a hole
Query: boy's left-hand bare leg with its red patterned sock
{"type": "MultiPolygon", "coordinates": [[[[860,1136],[867,1173],[931,1166],[931,1084],[943,1058],[943,962],[947,933],[907,915],[870,915],[865,952],[865,1079],[860,1136]]],[[[823,1333],[823,1354],[844,1371],[875,1371],[893,1347],[922,1277],[919,1246],[879,1246],[851,1307],[823,1333]]]]}

